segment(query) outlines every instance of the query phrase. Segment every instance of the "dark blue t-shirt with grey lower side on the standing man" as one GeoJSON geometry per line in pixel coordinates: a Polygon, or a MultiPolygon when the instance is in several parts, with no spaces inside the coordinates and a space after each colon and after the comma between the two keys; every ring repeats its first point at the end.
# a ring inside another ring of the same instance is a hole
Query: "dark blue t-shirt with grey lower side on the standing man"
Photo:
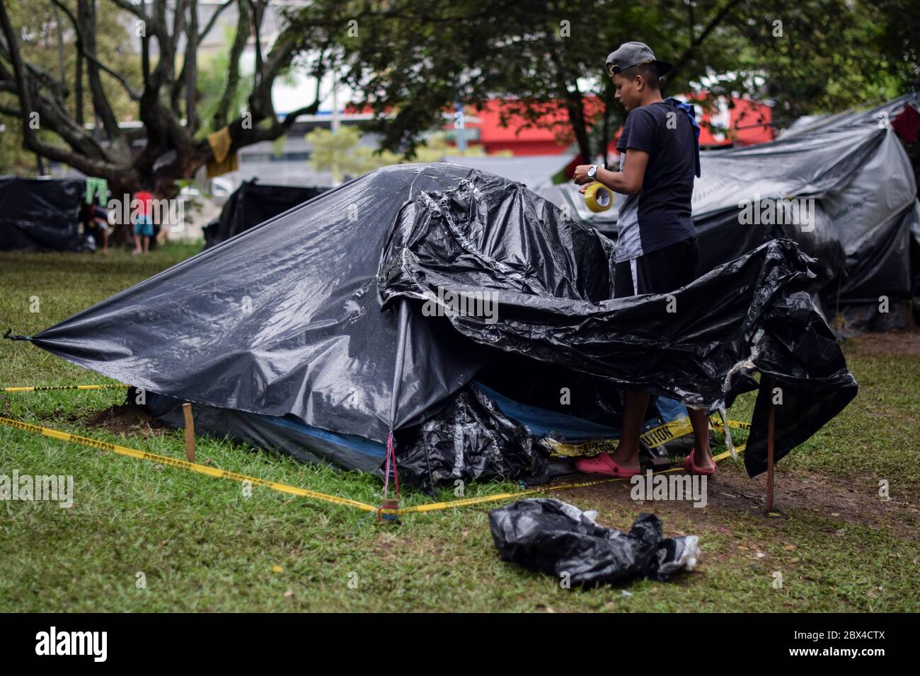
{"type": "Polygon", "coordinates": [[[627,196],[617,219],[616,262],[638,258],[696,235],[690,200],[696,174],[696,132],[683,110],[661,101],[630,111],[616,149],[649,154],[638,195],[627,196]]]}

